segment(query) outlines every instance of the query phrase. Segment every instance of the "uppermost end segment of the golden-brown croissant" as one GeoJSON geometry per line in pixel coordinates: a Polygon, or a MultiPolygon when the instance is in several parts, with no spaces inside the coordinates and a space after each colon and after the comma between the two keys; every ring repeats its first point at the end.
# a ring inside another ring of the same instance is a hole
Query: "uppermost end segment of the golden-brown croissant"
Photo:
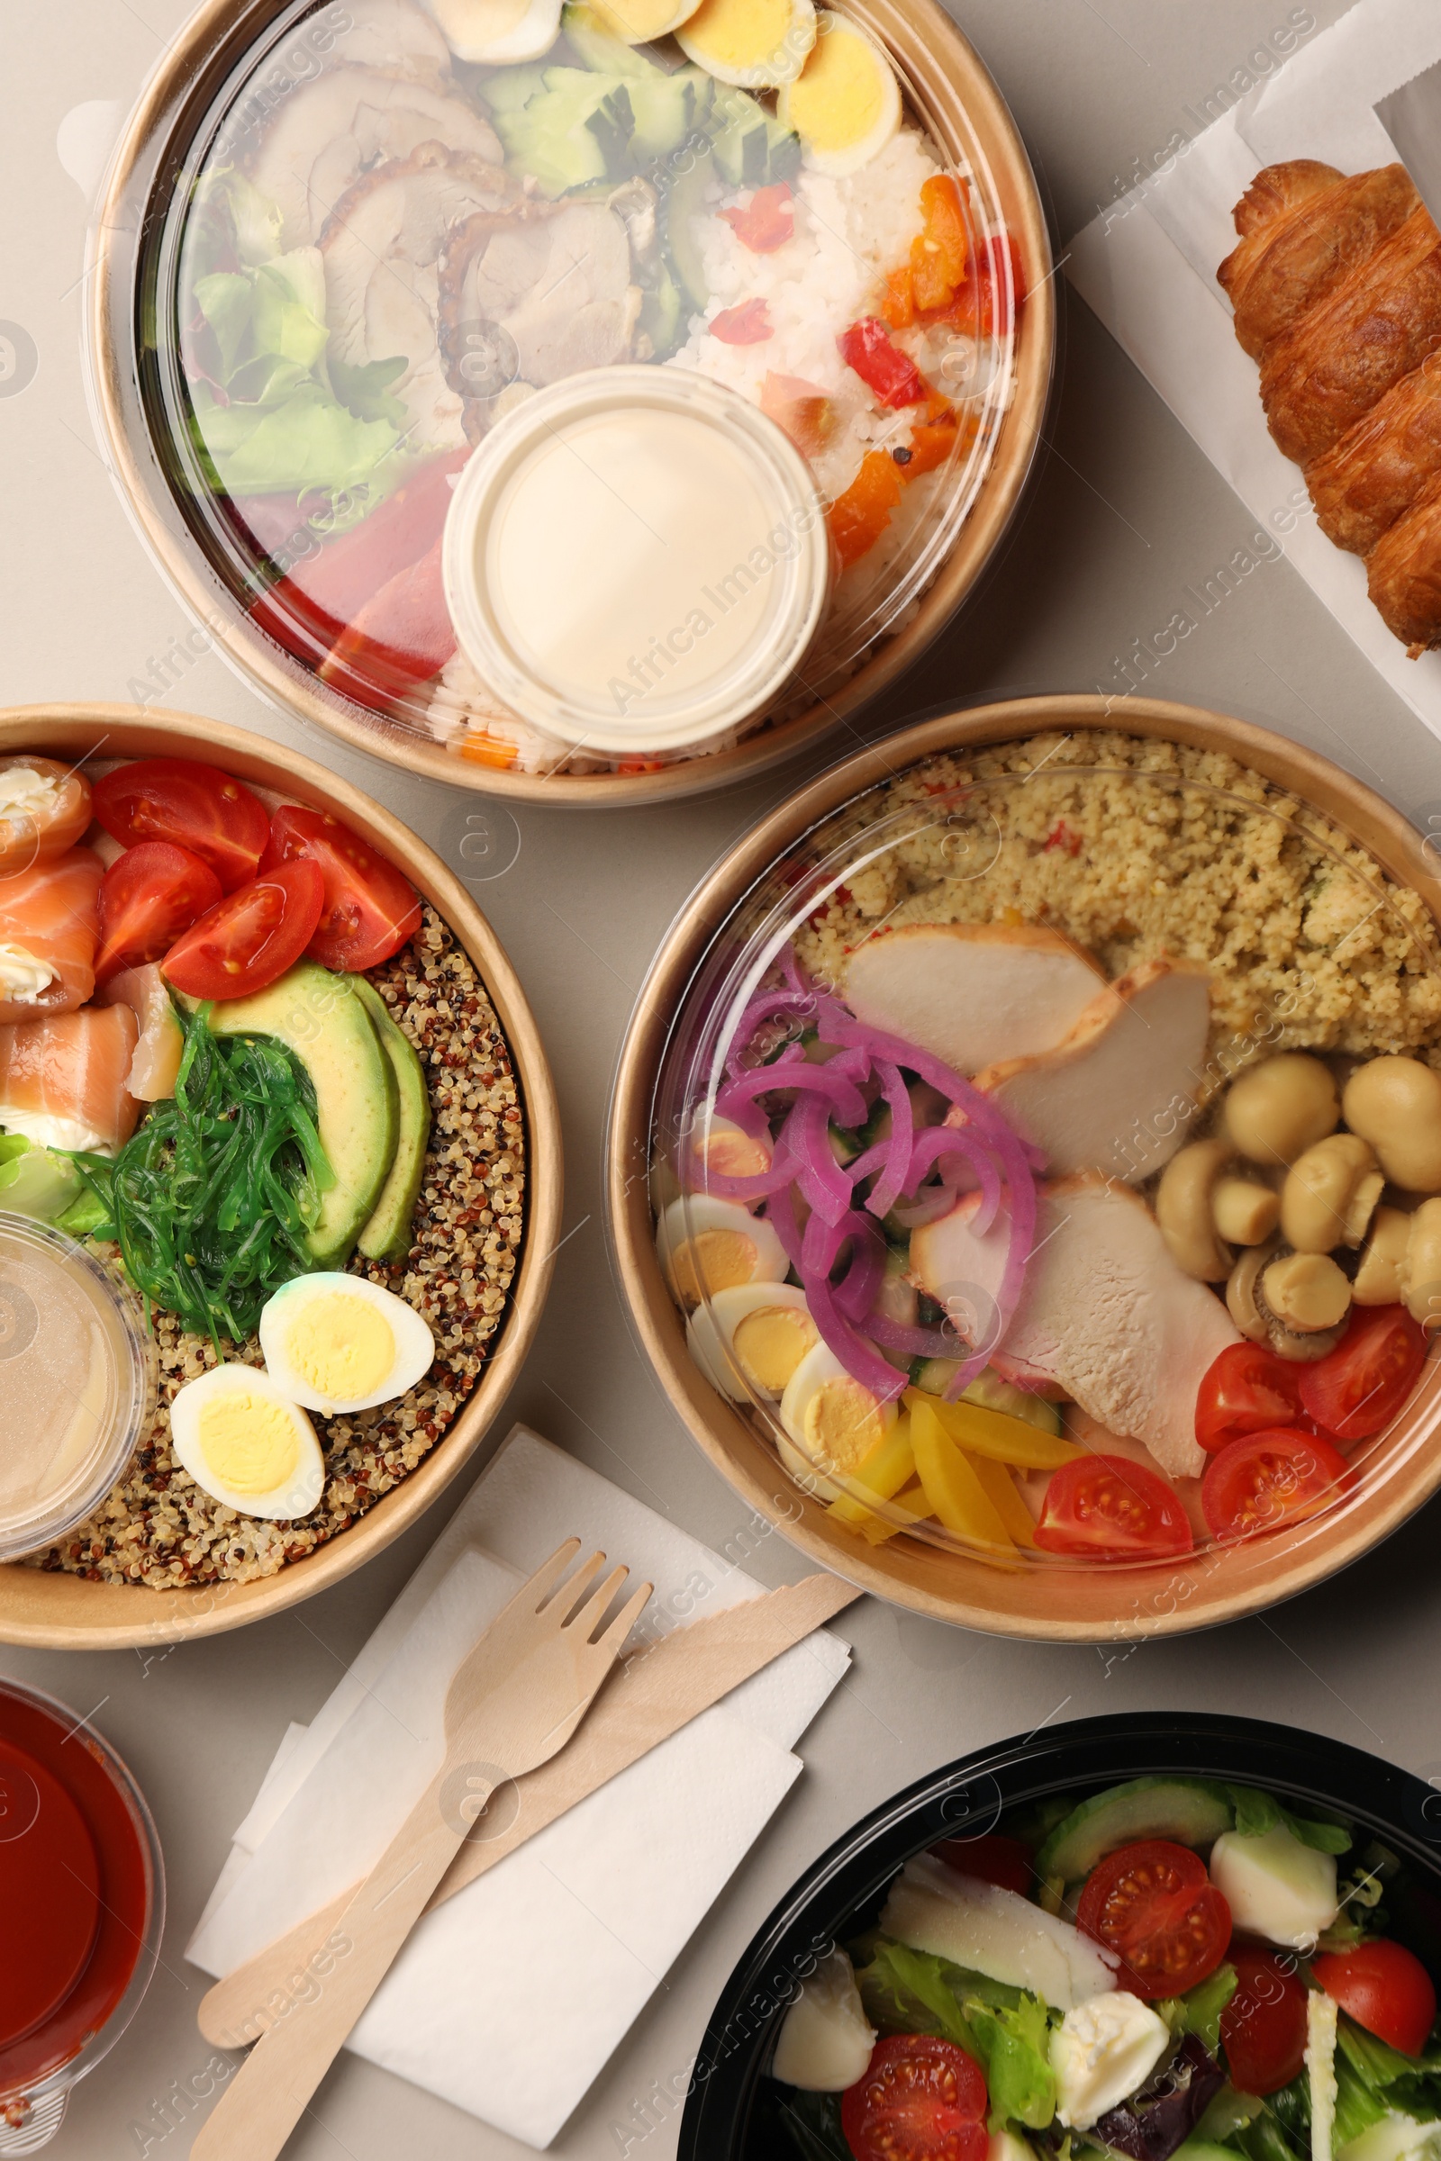
{"type": "Polygon", "coordinates": [[[1346,179],[1333,164],[1292,158],[1257,173],[1236,205],[1240,246],[1216,272],[1251,359],[1374,255],[1415,205],[1402,164],[1346,179]]]}

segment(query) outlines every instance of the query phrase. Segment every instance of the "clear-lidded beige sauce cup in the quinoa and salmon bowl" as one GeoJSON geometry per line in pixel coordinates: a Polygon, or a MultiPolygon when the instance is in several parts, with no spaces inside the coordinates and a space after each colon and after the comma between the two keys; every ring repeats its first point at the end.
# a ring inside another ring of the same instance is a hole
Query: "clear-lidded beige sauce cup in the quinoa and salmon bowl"
{"type": "Polygon", "coordinates": [[[140,1305],[82,1245],[0,1212],[0,1560],[110,1491],[156,1405],[140,1305]]]}

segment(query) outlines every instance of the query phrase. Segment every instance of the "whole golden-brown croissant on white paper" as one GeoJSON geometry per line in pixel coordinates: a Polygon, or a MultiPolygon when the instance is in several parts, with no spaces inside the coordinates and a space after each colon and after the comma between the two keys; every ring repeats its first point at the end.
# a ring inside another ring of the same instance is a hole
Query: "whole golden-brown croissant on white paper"
{"type": "Polygon", "coordinates": [[[1320,529],[1365,555],[1383,622],[1441,646],[1441,233],[1398,164],[1266,166],[1216,272],[1320,529]]]}

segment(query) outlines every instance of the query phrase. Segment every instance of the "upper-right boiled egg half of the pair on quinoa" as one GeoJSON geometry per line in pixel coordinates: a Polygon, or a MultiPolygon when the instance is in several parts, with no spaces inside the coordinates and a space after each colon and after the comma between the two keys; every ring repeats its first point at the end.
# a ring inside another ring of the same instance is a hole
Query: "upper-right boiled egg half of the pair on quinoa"
{"type": "Polygon", "coordinates": [[[259,1316],[259,1346],[274,1385],[331,1418],[404,1396],[434,1359],[413,1305],[339,1271],[283,1284],[259,1316]]]}

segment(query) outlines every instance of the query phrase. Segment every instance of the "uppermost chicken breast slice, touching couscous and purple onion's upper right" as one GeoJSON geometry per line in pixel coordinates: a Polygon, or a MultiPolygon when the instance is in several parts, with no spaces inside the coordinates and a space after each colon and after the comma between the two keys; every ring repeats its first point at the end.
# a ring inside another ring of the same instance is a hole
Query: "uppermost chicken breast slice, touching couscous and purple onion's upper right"
{"type": "Polygon", "coordinates": [[[977,1074],[1065,1042],[1104,983],[1059,931],[905,923],[851,953],[843,996],[858,1020],[977,1074]]]}

